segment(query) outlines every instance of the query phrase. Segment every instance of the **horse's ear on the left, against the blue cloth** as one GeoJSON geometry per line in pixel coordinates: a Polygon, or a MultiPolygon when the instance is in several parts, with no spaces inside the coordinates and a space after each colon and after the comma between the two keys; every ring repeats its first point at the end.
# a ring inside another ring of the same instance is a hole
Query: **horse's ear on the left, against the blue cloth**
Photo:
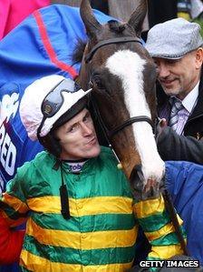
{"type": "Polygon", "coordinates": [[[102,25],[97,21],[95,16],[92,13],[92,7],[89,0],[81,1],[80,13],[82,21],[85,25],[87,35],[93,37],[96,35],[96,32],[102,28],[102,25]]]}

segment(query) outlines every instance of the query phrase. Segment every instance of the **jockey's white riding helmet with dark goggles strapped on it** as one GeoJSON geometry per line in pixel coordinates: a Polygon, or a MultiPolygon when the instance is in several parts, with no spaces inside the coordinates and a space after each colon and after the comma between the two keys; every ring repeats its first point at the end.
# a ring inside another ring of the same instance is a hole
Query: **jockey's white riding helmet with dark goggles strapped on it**
{"type": "Polygon", "coordinates": [[[28,136],[32,140],[46,136],[66,113],[65,121],[70,120],[85,106],[82,97],[91,90],[84,92],[72,79],[58,75],[35,80],[24,90],[19,109],[28,136]]]}

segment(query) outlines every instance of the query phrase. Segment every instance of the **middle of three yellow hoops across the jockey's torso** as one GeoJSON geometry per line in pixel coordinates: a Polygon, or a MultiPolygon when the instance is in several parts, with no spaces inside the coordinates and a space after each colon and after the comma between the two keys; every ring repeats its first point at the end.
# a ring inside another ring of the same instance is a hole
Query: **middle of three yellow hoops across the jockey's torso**
{"type": "Polygon", "coordinates": [[[39,227],[29,218],[26,234],[35,237],[43,245],[72,247],[74,249],[98,249],[109,247],[132,247],[137,238],[137,227],[130,230],[74,232],[39,227]],[[67,237],[67,239],[65,238],[67,237]]]}

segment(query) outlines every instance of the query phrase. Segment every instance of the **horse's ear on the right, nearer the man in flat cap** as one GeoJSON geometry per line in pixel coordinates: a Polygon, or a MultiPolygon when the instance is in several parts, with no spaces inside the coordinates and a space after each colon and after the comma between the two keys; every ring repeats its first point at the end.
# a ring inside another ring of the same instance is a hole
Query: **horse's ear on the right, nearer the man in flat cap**
{"type": "Polygon", "coordinates": [[[128,24],[131,25],[138,36],[141,34],[141,26],[143,24],[144,18],[147,15],[148,4],[147,0],[140,0],[140,5],[131,15],[128,24]]]}

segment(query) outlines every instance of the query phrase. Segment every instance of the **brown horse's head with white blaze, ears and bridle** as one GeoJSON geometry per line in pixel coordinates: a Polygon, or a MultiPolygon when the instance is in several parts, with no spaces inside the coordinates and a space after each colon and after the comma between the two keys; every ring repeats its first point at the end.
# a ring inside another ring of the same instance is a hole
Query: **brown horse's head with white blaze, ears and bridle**
{"type": "Polygon", "coordinates": [[[156,68],[140,42],[147,4],[128,23],[101,25],[88,0],[82,0],[81,16],[89,37],[82,58],[81,85],[92,84],[92,96],[108,130],[111,145],[128,177],[141,163],[145,182],[160,181],[164,163],[154,140],[156,116],[156,68]]]}

